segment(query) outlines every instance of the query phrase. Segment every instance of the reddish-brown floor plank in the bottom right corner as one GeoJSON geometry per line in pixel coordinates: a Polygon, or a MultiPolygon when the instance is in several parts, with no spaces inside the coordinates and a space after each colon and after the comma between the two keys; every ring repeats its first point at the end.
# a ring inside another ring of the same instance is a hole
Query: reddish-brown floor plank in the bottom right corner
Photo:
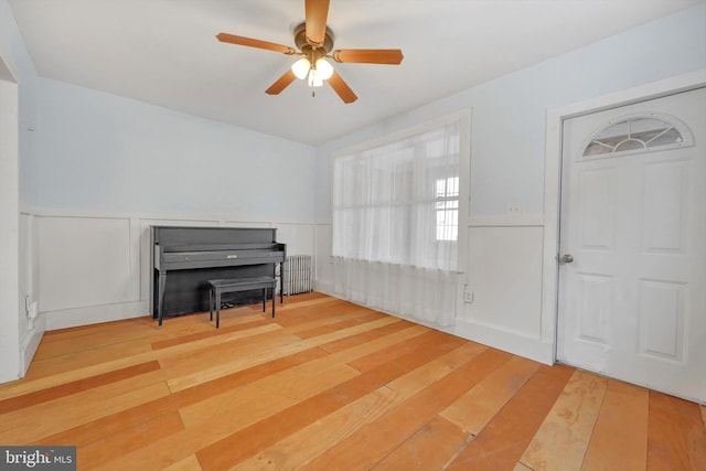
{"type": "Polygon", "coordinates": [[[706,430],[698,405],[650,392],[648,470],[706,470],[706,430]]]}

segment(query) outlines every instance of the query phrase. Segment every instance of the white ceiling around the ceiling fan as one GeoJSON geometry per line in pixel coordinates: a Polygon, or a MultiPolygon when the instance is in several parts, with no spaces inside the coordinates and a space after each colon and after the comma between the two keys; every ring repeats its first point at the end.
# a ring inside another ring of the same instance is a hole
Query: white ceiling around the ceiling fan
{"type": "Polygon", "coordinates": [[[344,105],[295,62],[220,32],[292,45],[303,0],[9,0],[39,74],[317,144],[704,0],[331,0],[334,49],[403,50],[398,66],[338,64],[344,105]]]}

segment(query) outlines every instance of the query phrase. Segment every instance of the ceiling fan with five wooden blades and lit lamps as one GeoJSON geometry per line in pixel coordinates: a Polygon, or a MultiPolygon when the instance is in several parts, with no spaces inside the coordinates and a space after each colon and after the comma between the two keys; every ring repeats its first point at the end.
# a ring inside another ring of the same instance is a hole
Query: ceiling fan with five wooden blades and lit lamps
{"type": "Polygon", "coordinates": [[[353,103],[357,96],[351,87],[341,78],[333,66],[325,60],[332,58],[339,63],[363,64],[399,64],[403,60],[398,49],[333,49],[333,33],[327,26],[329,15],[329,0],[304,0],[304,22],[295,29],[295,44],[289,47],[282,44],[254,40],[252,38],[236,36],[228,33],[220,33],[217,40],[223,43],[237,44],[248,47],[258,47],[267,51],[281,52],[287,55],[300,55],[289,71],[279,77],[265,93],[279,95],[296,78],[309,78],[311,87],[323,85],[328,82],[331,88],[344,103],[353,103]]]}

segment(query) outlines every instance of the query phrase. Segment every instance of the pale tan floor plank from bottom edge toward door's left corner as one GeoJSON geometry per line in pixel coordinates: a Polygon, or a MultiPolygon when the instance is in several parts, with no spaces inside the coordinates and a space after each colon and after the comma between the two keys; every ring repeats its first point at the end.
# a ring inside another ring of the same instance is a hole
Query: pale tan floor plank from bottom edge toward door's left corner
{"type": "Polygon", "coordinates": [[[608,381],[576,371],[520,461],[533,470],[578,470],[598,419],[608,381]]]}

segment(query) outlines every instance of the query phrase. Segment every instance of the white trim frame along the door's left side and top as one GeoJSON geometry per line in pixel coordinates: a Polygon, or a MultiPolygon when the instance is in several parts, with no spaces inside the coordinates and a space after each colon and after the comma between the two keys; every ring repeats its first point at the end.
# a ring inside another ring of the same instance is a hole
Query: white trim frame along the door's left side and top
{"type": "Polygon", "coordinates": [[[542,339],[553,344],[552,363],[556,363],[559,335],[558,249],[561,211],[564,121],[577,116],[661,98],[703,86],[706,86],[706,68],[547,109],[544,175],[544,255],[542,264],[542,339]]]}

